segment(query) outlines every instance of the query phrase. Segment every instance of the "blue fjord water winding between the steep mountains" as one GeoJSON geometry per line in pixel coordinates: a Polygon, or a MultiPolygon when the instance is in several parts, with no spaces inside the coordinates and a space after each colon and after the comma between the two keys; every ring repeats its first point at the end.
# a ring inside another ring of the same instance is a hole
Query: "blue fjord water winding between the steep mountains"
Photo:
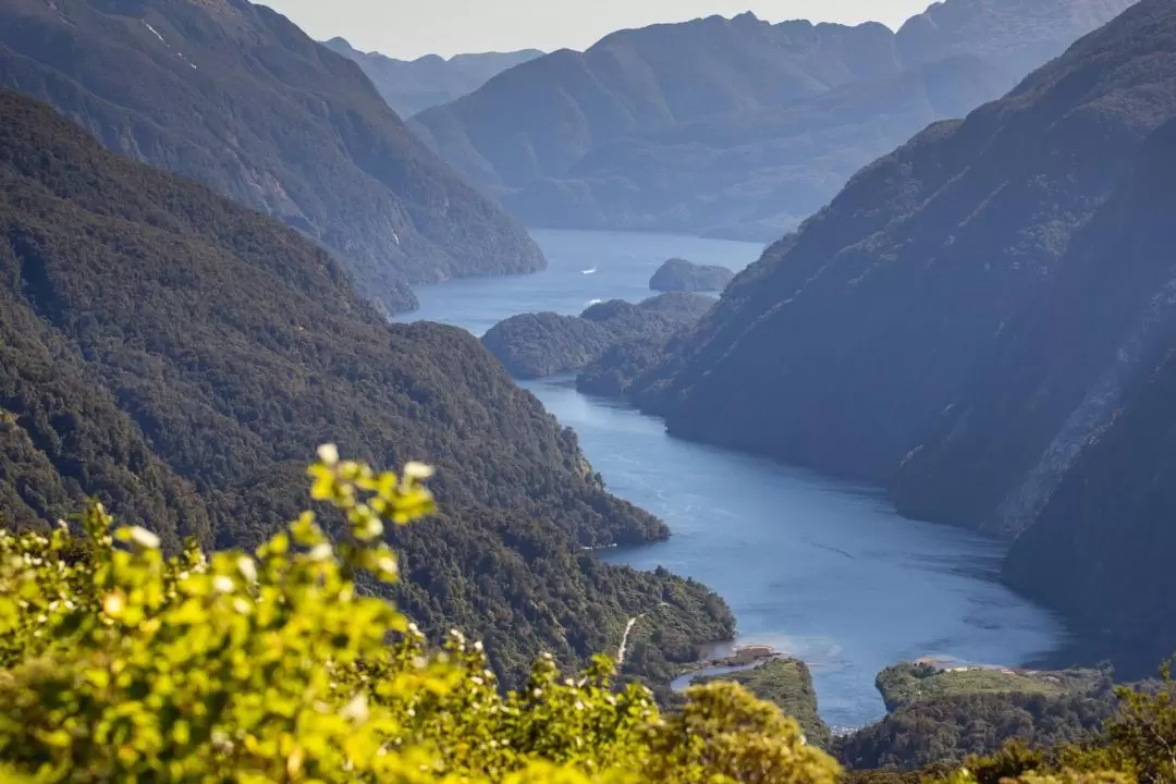
{"type": "MultiPolygon", "coordinates": [[[[670,256],[739,269],[761,250],[652,234],[534,235],[546,272],[422,287],[412,319],[481,335],[517,313],[576,314],[594,300],[644,299],[670,256]]],[[[831,725],[883,715],[874,677],[888,664],[942,657],[1016,665],[1062,643],[1054,617],[995,582],[995,542],[904,520],[870,488],[670,438],[655,417],[583,396],[569,377],[523,386],[575,429],[614,494],[673,530],[668,542],[601,557],[663,565],[714,588],[735,611],[741,643],[774,645],[809,664],[831,725]]]]}

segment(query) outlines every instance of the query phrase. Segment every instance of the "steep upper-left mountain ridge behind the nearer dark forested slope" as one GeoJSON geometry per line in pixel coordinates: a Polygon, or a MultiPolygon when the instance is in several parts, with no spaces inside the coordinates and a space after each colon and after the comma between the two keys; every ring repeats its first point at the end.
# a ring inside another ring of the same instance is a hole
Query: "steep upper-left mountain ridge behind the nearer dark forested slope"
{"type": "Polygon", "coordinates": [[[386,311],[409,282],[543,264],[354,63],[245,0],[11,0],[0,86],[313,236],[386,311]]]}

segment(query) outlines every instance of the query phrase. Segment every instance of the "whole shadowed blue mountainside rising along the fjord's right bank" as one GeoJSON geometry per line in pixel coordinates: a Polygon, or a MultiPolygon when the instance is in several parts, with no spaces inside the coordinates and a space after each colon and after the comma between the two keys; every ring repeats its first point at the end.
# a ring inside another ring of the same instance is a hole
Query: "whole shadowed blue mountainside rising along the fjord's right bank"
{"type": "Polygon", "coordinates": [[[1174,175],[1176,6],[1143,0],[858,172],[629,394],[1002,536],[1010,584],[1120,661],[1167,656],[1174,175]]]}

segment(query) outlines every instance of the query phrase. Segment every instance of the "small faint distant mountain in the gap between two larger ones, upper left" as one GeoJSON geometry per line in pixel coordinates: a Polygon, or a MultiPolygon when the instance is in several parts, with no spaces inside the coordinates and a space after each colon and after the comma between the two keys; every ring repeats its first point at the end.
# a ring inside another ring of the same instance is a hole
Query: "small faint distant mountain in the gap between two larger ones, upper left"
{"type": "Polygon", "coordinates": [[[507,68],[543,56],[539,49],[521,49],[459,54],[448,60],[436,54],[396,60],[379,52],[360,52],[342,38],[323,45],[358,62],[388,106],[405,118],[469,95],[507,68]]]}

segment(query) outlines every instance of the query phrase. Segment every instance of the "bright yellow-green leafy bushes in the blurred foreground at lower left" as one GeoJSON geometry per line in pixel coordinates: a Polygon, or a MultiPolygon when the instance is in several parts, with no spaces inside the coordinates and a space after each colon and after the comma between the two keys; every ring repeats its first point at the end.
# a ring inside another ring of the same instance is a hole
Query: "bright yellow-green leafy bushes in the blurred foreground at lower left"
{"type": "Polygon", "coordinates": [[[501,693],[480,644],[443,650],[356,579],[396,578],[387,523],[433,509],[400,476],[320,450],[306,512],[255,552],[167,558],[99,504],[85,540],[0,531],[0,779],[27,782],[780,782],[838,770],[733,684],[662,717],[599,658],[501,693]]]}

